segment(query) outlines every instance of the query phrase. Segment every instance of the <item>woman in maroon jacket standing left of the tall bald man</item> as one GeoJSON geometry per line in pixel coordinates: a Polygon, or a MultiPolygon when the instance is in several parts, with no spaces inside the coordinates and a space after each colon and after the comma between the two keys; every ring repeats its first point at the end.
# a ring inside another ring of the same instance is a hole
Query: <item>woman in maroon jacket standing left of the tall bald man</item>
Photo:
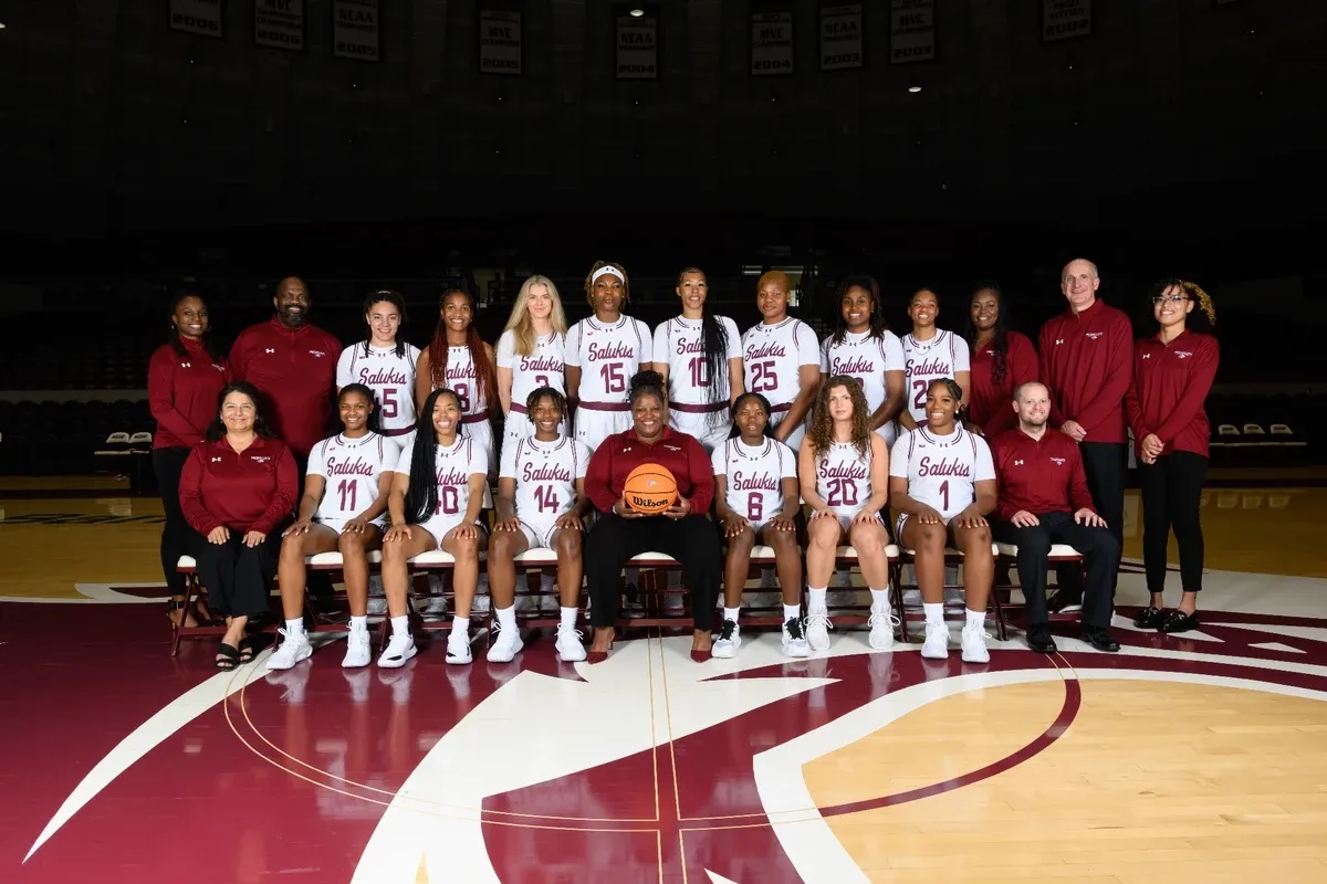
{"type": "Polygon", "coordinates": [[[967,346],[973,386],[963,425],[994,439],[1018,425],[1013,408],[1019,384],[1036,380],[1036,347],[1026,334],[1006,327],[1005,294],[994,282],[978,282],[967,304],[967,346]]]}

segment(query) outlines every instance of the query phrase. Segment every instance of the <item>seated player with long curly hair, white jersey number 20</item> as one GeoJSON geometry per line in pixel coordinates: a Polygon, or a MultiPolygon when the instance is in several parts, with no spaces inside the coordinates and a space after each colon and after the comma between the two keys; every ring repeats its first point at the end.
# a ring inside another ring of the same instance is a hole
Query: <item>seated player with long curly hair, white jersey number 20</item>
{"type": "Polygon", "coordinates": [[[812,509],[807,525],[807,640],[813,651],[829,647],[825,591],[839,543],[847,538],[871,590],[871,647],[888,648],[894,643],[885,555],[889,533],[880,513],[889,501],[889,448],[871,431],[871,410],[856,379],[835,375],[825,380],[798,459],[802,497],[812,509]]]}

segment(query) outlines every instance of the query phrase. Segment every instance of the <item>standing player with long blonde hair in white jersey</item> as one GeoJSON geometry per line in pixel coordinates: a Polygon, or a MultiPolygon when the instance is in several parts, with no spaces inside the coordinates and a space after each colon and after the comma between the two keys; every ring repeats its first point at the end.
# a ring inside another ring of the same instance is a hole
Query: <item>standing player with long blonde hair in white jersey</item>
{"type": "MultiPolygon", "coordinates": [[[[529,394],[543,387],[567,394],[565,343],[567,313],[557,286],[547,276],[535,274],[522,284],[507,329],[498,338],[498,399],[506,415],[504,441],[531,435],[533,424],[525,415],[529,394]]],[[[568,435],[565,416],[559,432],[568,435]]]]}

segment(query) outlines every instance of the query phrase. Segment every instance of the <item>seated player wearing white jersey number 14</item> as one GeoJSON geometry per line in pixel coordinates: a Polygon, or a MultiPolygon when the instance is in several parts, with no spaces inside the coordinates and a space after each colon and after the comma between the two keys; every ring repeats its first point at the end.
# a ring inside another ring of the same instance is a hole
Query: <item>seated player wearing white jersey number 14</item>
{"type": "Polygon", "coordinates": [[[498,618],[498,637],[488,648],[488,660],[507,663],[520,652],[514,557],[544,549],[557,551],[563,603],[557,656],[575,663],[585,659],[576,615],[580,612],[581,520],[591,509],[585,497],[589,447],[561,435],[567,399],[552,387],[540,387],[516,404],[520,410],[514,408],[507,420],[528,420],[533,432],[519,436],[508,425],[502,449],[495,501],[498,518],[488,550],[488,592],[498,618]]]}

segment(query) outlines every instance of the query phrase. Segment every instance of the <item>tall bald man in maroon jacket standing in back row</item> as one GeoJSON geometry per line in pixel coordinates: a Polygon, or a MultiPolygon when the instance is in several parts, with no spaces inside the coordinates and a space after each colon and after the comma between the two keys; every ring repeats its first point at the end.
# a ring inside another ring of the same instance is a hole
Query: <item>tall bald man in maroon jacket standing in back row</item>
{"type": "MultiPolygon", "coordinates": [[[[1116,541],[1124,542],[1128,431],[1124,395],[1133,371],[1129,318],[1096,297],[1096,265],[1075,258],[1060,273],[1070,309],[1042,326],[1040,379],[1051,394],[1051,424],[1079,444],[1087,486],[1116,541]]],[[[1051,610],[1076,610],[1083,582],[1076,567],[1059,569],[1051,610]]]]}

